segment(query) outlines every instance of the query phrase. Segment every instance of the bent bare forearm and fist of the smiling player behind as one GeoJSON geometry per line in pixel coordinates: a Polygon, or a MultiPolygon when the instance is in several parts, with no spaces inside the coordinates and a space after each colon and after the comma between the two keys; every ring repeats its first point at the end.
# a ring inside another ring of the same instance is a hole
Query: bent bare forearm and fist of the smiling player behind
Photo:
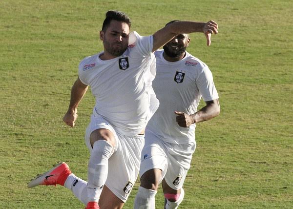
{"type": "Polygon", "coordinates": [[[175,111],[175,114],[177,115],[176,121],[181,127],[189,127],[191,124],[208,121],[220,114],[219,100],[216,99],[206,102],[206,106],[192,115],[178,111],[175,111]]]}

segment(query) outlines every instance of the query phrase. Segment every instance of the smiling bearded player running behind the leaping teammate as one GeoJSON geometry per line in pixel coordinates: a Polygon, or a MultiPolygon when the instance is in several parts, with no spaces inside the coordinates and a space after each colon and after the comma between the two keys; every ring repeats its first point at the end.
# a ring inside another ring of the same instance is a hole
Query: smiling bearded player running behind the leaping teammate
{"type": "MultiPolygon", "coordinates": [[[[177,22],[171,21],[167,25],[177,22]]],[[[152,82],[160,106],[146,126],[141,157],[141,185],[134,209],[155,209],[162,182],[165,209],[177,209],[195,151],[195,125],[220,113],[218,93],[209,67],[186,51],[188,34],[179,34],[155,52],[157,74],[152,82]],[[197,110],[201,100],[206,105],[197,110]]]]}

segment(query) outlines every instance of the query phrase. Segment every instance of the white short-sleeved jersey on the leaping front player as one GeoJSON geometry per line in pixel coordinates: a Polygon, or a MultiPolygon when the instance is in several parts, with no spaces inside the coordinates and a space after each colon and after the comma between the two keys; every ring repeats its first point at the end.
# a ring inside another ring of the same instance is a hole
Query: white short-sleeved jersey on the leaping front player
{"type": "Polygon", "coordinates": [[[93,114],[102,116],[119,133],[141,132],[159,105],[151,87],[156,73],[152,47],[152,36],[132,32],[120,57],[101,60],[101,52],[79,65],[80,80],[91,87],[96,98],[93,114]]]}

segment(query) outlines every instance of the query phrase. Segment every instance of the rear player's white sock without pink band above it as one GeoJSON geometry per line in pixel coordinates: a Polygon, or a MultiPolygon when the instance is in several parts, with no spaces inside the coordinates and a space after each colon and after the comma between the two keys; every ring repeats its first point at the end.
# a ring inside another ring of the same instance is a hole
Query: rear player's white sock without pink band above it
{"type": "Polygon", "coordinates": [[[156,193],[156,190],[139,187],[134,200],[134,209],[155,209],[156,193]]]}

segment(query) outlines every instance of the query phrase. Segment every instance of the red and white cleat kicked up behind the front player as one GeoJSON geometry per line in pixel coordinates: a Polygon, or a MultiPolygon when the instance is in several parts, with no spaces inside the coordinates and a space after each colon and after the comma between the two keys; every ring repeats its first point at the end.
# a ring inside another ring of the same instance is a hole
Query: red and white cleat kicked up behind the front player
{"type": "Polygon", "coordinates": [[[28,183],[28,188],[33,188],[38,185],[62,185],[64,186],[64,183],[71,173],[68,165],[64,162],[58,163],[54,165],[54,167],[40,175],[37,175],[34,179],[31,180],[30,183],[28,183]]]}

